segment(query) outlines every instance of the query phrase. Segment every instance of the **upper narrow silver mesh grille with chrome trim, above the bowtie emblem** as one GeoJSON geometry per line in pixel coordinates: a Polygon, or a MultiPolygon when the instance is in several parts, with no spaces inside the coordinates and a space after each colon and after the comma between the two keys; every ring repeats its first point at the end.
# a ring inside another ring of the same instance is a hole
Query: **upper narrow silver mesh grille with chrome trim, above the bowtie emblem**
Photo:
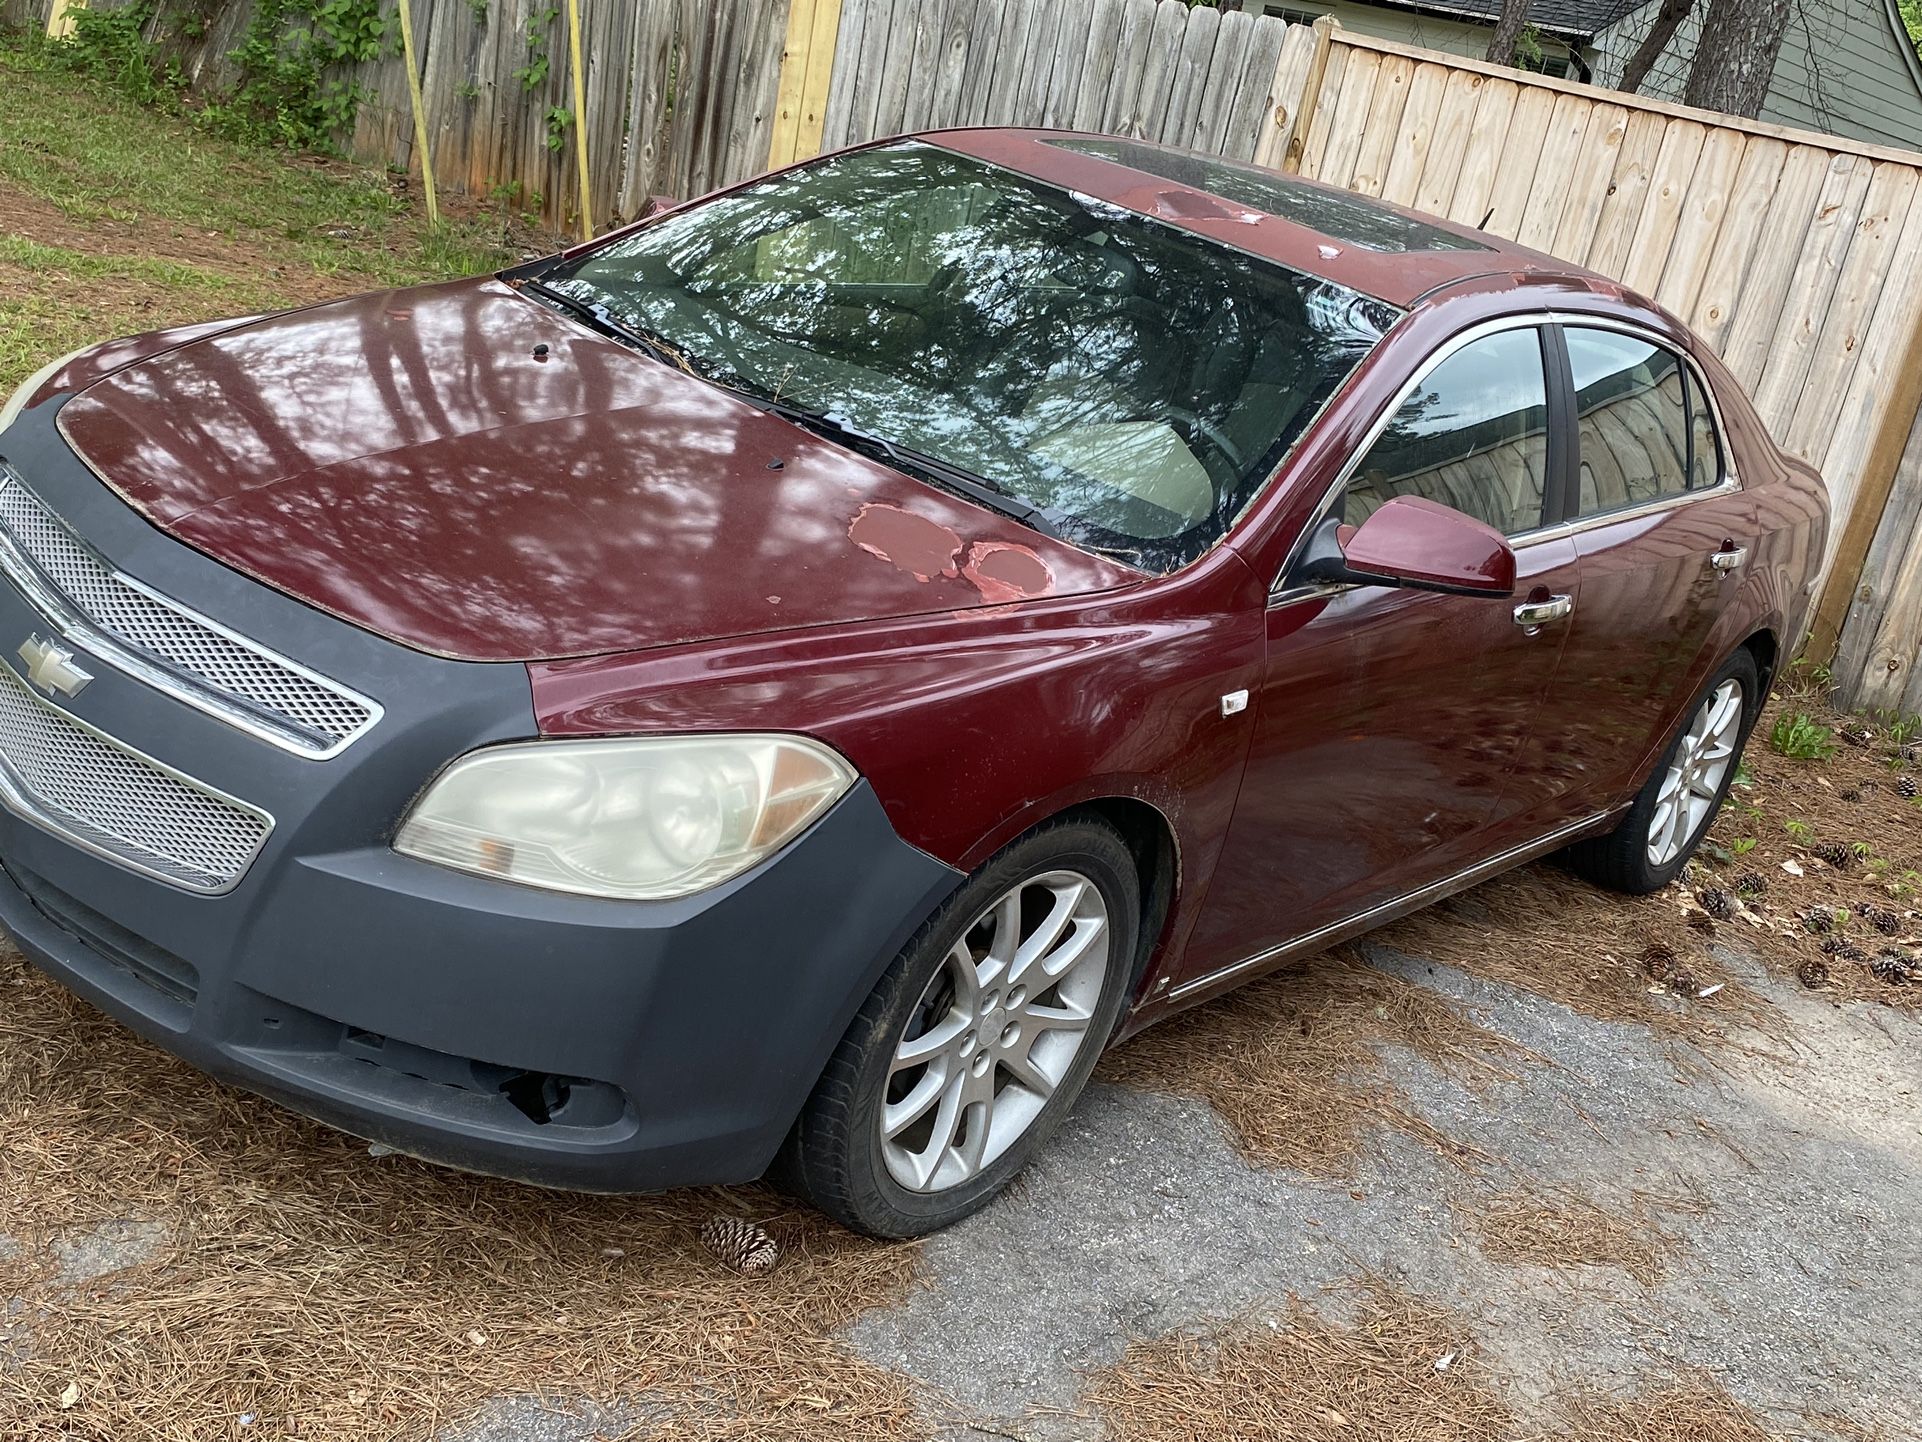
{"type": "Polygon", "coordinates": [[[0,531],[83,619],[163,669],[279,723],[275,738],[290,750],[333,756],[379,719],[371,702],[108,567],[12,471],[0,471],[0,531]],[[288,729],[292,734],[284,734],[288,729]]]}

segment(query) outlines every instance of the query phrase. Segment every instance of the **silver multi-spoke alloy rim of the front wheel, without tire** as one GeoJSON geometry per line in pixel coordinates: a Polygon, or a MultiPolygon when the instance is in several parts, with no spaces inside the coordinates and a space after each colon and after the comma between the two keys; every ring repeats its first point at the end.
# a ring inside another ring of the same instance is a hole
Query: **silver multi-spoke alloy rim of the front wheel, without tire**
{"type": "Polygon", "coordinates": [[[878,1129],[898,1184],[959,1186],[1034,1125],[1088,1044],[1111,950],[1107,902],[1078,871],[1030,877],[969,923],[888,1063],[878,1129]]]}

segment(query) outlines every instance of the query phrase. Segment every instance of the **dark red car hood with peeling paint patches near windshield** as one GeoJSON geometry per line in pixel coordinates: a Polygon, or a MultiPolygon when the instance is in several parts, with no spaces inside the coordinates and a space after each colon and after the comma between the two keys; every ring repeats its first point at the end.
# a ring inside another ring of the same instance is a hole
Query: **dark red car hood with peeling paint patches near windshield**
{"type": "Polygon", "coordinates": [[[463,659],[592,656],[1142,579],[500,281],[246,323],[92,383],[60,425],[188,546],[463,659]]]}

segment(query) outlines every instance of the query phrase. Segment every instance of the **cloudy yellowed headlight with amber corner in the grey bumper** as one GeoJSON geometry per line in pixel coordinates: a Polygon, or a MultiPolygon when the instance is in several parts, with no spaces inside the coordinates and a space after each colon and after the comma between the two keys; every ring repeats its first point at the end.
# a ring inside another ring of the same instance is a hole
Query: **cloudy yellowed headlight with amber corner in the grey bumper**
{"type": "Polygon", "coordinates": [[[778,852],[853,779],[800,736],[490,746],[427,788],[394,850],[559,892],[688,896],[778,852]]]}

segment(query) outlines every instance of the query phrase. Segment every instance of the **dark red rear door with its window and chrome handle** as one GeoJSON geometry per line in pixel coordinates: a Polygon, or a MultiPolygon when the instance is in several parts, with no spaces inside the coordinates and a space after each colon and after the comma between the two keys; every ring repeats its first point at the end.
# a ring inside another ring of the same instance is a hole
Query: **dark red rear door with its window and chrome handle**
{"type": "Polygon", "coordinates": [[[1547,823],[1626,800],[1720,656],[1716,623],[1755,546],[1701,375],[1632,325],[1566,323],[1576,467],[1561,527],[1582,598],[1541,708],[1547,744],[1511,804],[1547,823]]]}

